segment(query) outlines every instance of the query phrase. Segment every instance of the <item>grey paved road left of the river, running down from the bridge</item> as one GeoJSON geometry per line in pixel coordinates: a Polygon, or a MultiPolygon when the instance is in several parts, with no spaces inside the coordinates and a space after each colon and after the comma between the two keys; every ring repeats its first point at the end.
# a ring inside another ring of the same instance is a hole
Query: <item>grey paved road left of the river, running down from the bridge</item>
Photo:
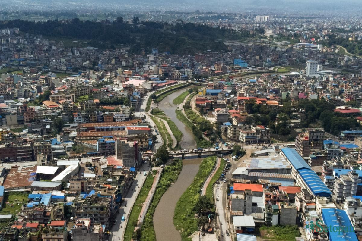
{"type": "MultiPolygon", "coordinates": [[[[135,180],[133,181],[130,190],[128,191],[127,195],[123,197],[123,203],[122,206],[119,208],[119,214],[117,215],[117,221],[113,225],[111,229],[111,235],[109,237],[109,241],[117,241],[118,237],[120,240],[123,240],[124,232],[126,229],[127,221],[131,212],[131,209],[136,201],[136,198],[138,196],[139,191],[142,188],[144,180],[146,180],[147,176],[143,175],[143,170],[148,171],[149,167],[148,164],[142,164],[142,167],[140,168],[140,171],[137,173],[137,176],[135,180]],[[139,186],[139,187],[137,187],[139,186]],[[132,191],[133,189],[133,191],[132,191]],[[122,216],[125,216],[126,221],[121,221],[122,216]]],[[[132,235],[132,234],[130,234],[132,235]]]]}

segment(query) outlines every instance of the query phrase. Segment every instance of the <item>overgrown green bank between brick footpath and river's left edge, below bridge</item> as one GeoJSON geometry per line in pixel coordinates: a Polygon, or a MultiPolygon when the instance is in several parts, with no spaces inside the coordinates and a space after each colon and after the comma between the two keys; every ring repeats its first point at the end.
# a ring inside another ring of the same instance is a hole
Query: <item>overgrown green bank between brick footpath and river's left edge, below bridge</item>
{"type": "Polygon", "coordinates": [[[169,186],[177,180],[178,175],[182,169],[182,161],[175,160],[172,165],[166,166],[161,174],[160,181],[157,184],[155,194],[147,214],[142,224],[142,241],[154,241],[156,240],[155,229],[153,228],[153,214],[155,214],[156,207],[160,202],[162,195],[167,191],[169,186]]]}

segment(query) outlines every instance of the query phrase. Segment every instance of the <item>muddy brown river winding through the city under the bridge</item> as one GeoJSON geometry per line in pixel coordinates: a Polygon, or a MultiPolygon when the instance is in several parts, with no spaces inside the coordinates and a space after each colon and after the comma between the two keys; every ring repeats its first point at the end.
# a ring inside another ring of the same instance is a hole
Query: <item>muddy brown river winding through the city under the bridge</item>
{"type": "MultiPolygon", "coordinates": [[[[181,95],[190,87],[180,89],[171,95],[166,96],[160,103],[159,108],[162,109],[167,116],[176,124],[178,129],[183,133],[181,140],[182,149],[196,148],[191,130],[184,125],[176,117],[177,105],[172,103],[172,100],[181,95]]],[[[159,204],[156,207],[153,216],[153,226],[156,232],[157,241],[181,241],[181,235],[173,225],[173,213],[178,199],[182,193],[191,185],[202,159],[185,159],[183,162],[182,171],[177,178],[177,181],[163,194],[159,204]]]]}

